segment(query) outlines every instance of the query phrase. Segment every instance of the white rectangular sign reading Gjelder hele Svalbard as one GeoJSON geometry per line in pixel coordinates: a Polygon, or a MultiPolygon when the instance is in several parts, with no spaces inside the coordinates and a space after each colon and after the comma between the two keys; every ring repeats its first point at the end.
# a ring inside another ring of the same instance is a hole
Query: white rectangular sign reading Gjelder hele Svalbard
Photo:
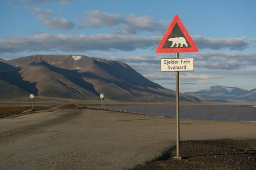
{"type": "Polygon", "coordinates": [[[194,71],[194,58],[161,59],[161,71],[194,71]]]}

